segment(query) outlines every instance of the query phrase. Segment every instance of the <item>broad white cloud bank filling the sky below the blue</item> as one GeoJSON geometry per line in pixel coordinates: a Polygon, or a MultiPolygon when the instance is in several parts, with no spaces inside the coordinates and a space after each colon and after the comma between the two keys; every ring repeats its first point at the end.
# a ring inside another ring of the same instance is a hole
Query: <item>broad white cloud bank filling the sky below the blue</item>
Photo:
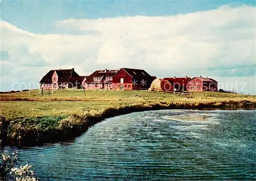
{"type": "Polygon", "coordinates": [[[59,29],[79,35],[35,34],[1,22],[2,50],[9,53],[9,63],[1,65],[8,70],[3,72],[9,72],[5,79],[23,74],[39,82],[49,69],[71,67],[80,75],[119,67],[144,68],[158,76],[256,75],[255,7],[251,6],[222,6],[176,16],[56,22],[59,29]]]}

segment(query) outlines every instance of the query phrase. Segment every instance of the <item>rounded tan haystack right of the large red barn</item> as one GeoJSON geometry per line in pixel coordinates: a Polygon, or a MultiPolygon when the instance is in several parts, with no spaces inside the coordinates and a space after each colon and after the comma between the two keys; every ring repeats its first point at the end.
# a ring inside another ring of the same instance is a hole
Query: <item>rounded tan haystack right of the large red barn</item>
{"type": "Polygon", "coordinates": [[[163,92],[163,91],[174,91],[174,86],[166,80],[163,79],[155,79],[152,84],[150,91],[157,91],[157,92],[163,92]]]}

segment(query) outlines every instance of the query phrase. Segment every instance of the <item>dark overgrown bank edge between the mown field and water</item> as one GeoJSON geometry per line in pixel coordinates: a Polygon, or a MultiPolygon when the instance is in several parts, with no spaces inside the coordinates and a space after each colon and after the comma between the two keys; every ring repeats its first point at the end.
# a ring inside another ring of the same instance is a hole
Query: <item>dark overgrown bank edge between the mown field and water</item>
{"type": "MultiPolygon", "coordinates": [[[[67,141],[86,132],[87,129],[103,119],[132,112],[163,109],[203,109],[203,108],[256,108],[256,102],[158,102],[111,106],[102,110],[78,111],[70,116],[41,116],[9,120],[7,144],[38,145],[67,141]]],[[[3,139],[3,138],[1,138],[3,139]]]]}

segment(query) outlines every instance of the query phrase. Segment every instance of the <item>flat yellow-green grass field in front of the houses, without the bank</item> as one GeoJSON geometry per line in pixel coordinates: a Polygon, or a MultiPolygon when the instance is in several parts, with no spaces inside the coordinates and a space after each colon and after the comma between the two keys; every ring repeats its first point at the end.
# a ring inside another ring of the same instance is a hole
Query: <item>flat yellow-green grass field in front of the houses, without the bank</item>
{"type": "Polygon", "coordinates": [[[40,90],[0,94],[0,114],[8,119],[37,116],[69,116],[88,110],[131,104],[156,104],[159,102],[190,102],[194,104],[222,101],[256,101],[255,96],[221,92],[195,92],[192,96],[147,91],[116,90],[40,90]],[[99,95],[102,92],[102,95],[99,95]],[[139,95],[139,96],[136,96],[139,95]],[[15,101],[18,100],[18,101],[15,101]]]}

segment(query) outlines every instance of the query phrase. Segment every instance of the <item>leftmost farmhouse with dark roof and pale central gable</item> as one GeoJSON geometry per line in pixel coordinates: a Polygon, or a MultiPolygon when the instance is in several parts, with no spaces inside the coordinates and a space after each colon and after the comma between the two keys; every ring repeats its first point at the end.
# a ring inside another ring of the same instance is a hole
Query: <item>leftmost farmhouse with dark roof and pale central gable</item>
{"type": "Polygon", "coordinates": [[[39,83],[41,89],[58,89],[79,87],[81,81],[81,77],[72,68],[50,70],[39,83]]]}

